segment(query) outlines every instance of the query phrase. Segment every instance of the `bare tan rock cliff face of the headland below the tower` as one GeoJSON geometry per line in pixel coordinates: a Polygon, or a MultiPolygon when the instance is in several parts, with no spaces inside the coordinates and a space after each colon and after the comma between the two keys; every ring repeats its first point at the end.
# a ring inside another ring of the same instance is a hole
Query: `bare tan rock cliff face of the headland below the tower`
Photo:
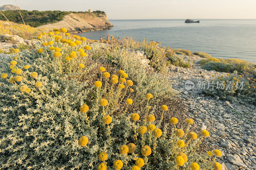
{"type": "Polygon", "coordinates": [[[87,32],[95,30],[110,29],[113,25],[108,20],[106,14],[87,12],[87,13],[70,13],[63,20],[42,25],[37,28],[66,28],[70,33],[87,32]]]}

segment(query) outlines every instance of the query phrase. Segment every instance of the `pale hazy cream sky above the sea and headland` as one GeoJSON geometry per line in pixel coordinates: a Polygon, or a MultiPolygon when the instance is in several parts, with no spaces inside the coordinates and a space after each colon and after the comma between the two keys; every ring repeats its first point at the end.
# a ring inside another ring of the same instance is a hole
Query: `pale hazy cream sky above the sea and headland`
{"type": "MultiPolygon", "coordinates": [[[[17,0],[24,10],[92,11],[108,19],[256,18],[256,0],[17,0]]],[[[0,6],[15,4],[1,0],[0,6]]]]}

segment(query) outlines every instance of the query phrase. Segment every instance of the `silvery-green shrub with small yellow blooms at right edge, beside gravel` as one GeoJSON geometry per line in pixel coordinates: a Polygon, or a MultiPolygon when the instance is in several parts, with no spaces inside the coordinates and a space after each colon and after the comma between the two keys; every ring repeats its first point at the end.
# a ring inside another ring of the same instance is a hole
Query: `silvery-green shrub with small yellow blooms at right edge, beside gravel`
{"type": "Polygon", "coordinates": [[[237,75],[237,71],[233,74],[217,77],[211,80],[214,83],[209,89],[204,89],[206,94],[216,96],[217,98],[238,101],[243,104],[256,104],[255,77],[245,78],[237,75]]]}

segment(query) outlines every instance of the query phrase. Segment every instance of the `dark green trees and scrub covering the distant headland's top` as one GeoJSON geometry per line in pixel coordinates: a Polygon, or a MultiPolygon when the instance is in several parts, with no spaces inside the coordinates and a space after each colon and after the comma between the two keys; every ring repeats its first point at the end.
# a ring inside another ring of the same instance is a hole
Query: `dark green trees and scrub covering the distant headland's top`
{"type": "MultiPolygon", "coordinates": [[[[32,27],[38,27],[41,25],[52,24],[63,20],[64,16],[70,13],[90,13],[90,12],[72,12],[72,11],[27,11],[20,10],[24,22],[32,27]]],[[[103,11],[93,11],[94,14],[105,14],[103,11]]],[[[3,11],[3,14],[10,21],[18,24],[22,24],[22,18],[20,17],[18,10],[3,11]]],[[[4,16],[0,16],[0,20],[6,21],[4,16]]]]}

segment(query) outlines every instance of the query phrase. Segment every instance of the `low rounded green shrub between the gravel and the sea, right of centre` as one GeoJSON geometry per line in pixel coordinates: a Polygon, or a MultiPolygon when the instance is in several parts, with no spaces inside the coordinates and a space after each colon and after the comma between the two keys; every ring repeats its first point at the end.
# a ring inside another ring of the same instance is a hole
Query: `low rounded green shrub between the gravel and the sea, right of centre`
{"type": "Polygon", "coordinates": [[[229,72],[231,69],[231,65],[227,62],[216,62],[216,61],[210,61],[201,66],[201,68],[205,70],[215,70],[220,72],[229,72]]]}

